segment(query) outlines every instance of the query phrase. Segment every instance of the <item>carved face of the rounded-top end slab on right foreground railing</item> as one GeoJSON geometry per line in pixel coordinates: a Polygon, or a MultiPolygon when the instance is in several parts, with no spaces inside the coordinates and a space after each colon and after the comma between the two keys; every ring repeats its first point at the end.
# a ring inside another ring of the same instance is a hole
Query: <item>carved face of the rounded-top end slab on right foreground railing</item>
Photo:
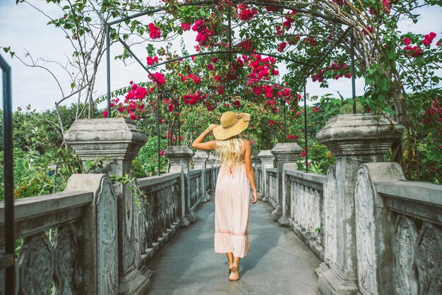
{"type": "Polygon", "coordinates": [[[356,251],[357,277],[362,294],[377,294],[374,258],[374,192],[368,171],[359,168],[356,183],[356,251]]]}

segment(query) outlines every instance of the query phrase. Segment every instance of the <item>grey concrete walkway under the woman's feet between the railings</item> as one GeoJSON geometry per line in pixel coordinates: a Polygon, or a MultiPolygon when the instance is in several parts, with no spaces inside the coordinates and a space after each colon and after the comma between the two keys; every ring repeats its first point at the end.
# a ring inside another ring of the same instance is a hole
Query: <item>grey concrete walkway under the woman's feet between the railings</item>
{"type": "Polygon", "coordinates": [[[251,250],[241,259],[240,279],[229,282],[227,258],[213,251],[214,200],[200,205],[198,219],[180,229],[149,265],[149,294],[317,294],[320,261],[288,228],[270,219],[272,207],[251,205],[251,250]]]}

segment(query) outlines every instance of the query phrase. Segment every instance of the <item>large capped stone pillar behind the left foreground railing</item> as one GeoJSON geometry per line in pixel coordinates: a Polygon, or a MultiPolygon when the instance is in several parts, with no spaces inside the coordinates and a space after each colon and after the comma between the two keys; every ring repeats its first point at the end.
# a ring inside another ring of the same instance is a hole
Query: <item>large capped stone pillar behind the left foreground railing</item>
{"type": "MultiPolygon", "coordinates": [[[[148,138],[132,121],[113,118],[78,119],[64,139],[76,150],[83,166],[86,161],[102,162],[102,168],[90,172],[124,176],[131,173],[132,160],[148,138]]],[[[119,294],[145,294],[153,272],[141,265],[138,207],[131,183],[119,182],[114,185],[114,191],[118,206],[119,294]]]]}

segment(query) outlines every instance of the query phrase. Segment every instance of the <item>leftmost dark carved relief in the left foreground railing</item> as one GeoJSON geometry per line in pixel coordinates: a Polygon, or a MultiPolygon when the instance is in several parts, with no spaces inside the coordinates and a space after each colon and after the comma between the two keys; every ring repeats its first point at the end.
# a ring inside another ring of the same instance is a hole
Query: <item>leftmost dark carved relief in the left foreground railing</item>
{"type": "Polygon", "coordinates": [[[20,294],[49,294],[54,275],[54,249],[44,234],[30,236],[23,241],[18,261],[20,294]]]}

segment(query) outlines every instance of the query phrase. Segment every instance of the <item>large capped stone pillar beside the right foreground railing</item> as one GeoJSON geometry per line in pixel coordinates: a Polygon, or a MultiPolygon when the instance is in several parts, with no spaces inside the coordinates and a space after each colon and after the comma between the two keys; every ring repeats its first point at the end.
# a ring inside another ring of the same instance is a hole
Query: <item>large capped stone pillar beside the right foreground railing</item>
{"type": "Polygon", "coordinates": [[[366,162],[382,162],[402,131],[402,126],[381,116],[348,114],[330,119],[316,136],[336,157],[324,189],[325,261],[316,270],[321,294],[359,291],[354,216],[357,171],[366,162]]]}

